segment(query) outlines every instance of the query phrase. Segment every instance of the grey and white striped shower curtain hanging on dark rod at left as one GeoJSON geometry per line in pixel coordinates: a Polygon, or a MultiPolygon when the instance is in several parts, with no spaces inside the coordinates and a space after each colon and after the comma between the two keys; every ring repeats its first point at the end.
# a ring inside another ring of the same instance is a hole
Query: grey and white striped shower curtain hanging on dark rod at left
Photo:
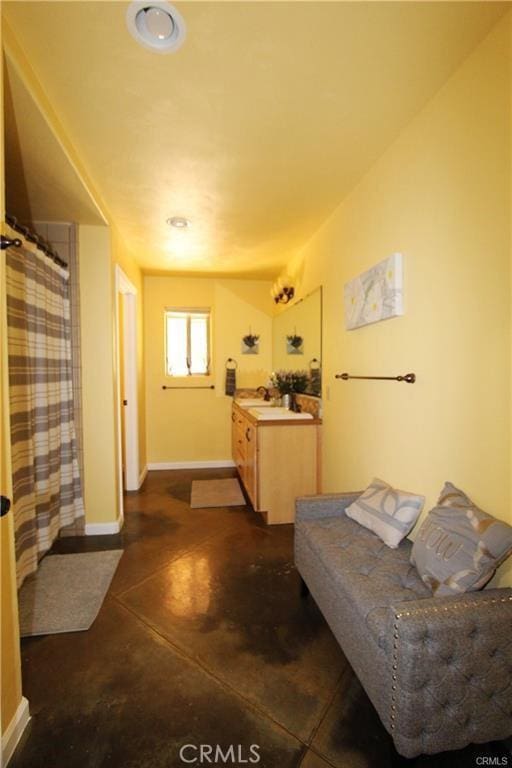
{"type": "Polygon", "coordinates": [[[73,415],[68,273],[26,242],[7,250],[6,265],[20,587],[60,529],[83,518],[84,506],[73,415]]]}

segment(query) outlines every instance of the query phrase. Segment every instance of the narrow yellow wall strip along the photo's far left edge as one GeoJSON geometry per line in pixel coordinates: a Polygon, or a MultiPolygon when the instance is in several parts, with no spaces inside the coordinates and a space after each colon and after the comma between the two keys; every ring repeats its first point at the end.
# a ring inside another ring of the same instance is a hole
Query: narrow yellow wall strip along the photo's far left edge
{"type": "MultiPolygon", "coordinates": [[[[2,27],[0,19],[0,43],[2,27]]],[[[0,60],[0,222],[5,216],[3,151],[3,59],[0,60]]],[[[5,306],[5,258],[0,261],[0,491],[12,499],[5,306]]],[[[12,512],[0,520],[0,732],[21,702],[21,661],[12,512]]]]}

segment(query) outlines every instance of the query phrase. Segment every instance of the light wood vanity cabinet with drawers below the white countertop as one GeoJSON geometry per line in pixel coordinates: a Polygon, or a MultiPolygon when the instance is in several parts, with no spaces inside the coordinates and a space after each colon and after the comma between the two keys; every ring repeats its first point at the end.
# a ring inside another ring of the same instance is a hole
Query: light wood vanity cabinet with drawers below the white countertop
{"type": "Polygon", "coordinates": [[[256,420],[233,405],[232,452],[254,509],[269,524],[292,523],[295,499],[320,493],[321,422],[256,420]]]}

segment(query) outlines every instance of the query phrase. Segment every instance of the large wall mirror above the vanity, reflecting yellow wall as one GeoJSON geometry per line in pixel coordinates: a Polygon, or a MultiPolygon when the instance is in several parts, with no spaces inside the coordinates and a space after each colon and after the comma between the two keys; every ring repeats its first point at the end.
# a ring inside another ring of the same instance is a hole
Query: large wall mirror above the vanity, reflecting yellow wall
{"type": "Polygon", "coordinates": [[[321,395],[322,288],[286,308],[272,321],[272,370],[313,372],[308,394],[321,395]]]}

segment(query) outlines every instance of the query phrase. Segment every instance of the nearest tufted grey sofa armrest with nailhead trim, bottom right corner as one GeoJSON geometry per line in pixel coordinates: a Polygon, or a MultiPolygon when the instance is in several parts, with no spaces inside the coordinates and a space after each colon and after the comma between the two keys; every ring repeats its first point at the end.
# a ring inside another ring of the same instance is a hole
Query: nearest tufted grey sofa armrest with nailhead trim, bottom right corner
{"type": "Polygon", "coordinates": [[[388,727],[412,757],[512,734],[512,589],[397,603],[388,727]]]}

